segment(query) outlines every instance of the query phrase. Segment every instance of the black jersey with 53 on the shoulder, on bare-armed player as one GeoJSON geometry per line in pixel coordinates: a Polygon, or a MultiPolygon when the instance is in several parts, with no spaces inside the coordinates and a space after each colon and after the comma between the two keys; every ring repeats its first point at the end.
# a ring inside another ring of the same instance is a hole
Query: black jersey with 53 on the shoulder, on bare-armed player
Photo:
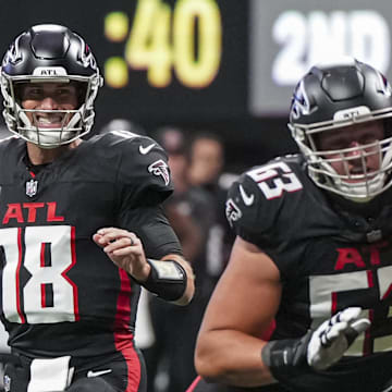
{"type": "Polygon", "coordinates": [[[373,392],[392,377],[392,196],[380,198],[371,213],[347,212],[314,184],[299,156],[253,168],[229,191],[235,233],[280,270],[271,340],[302,336],[348,306],[371,320],[336,366],[292,378],[295,390],[373,392]]]}

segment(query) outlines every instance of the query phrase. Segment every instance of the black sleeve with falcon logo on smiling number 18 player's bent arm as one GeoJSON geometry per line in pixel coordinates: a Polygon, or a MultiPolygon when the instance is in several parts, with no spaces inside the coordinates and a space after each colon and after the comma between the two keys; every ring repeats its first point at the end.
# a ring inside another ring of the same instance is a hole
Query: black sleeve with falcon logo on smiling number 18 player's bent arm
{"type": "Polygon", "coordinates": [[[127,137],[128,134],[124,134],[121,138],[119,134],[119,226],[140,238],[149,258],[182,254],[180,242],[161,206],[173,192],[166,151],[150,137],[127,137]]]}

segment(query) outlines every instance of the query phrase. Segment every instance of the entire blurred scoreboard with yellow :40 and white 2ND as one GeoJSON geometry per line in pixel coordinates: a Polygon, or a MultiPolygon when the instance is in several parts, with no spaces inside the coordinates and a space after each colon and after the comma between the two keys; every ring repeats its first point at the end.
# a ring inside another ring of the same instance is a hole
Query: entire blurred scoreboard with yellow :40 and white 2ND
{"type": "Polygon", "coordinates": [[[341,56],[392,77],[390,0],[9,1],[0,51],[37,23],[90,45],[106,81],[102,123],[283,119],[309,66],[341,56]]]}

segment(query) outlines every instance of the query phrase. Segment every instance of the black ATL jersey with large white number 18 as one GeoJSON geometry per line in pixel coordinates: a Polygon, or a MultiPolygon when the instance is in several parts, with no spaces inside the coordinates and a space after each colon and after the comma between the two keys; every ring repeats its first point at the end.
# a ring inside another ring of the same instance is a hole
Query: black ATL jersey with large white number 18
{"type": "Polygon", "coordinates": [[[111,132],[33,167],[17,137],[0,143],[1,318],[27,356],[91,357],[131,342],[140,287],[93,241],[136,233],[147,257],[181,254],[160,203],[172,193],[151,138],[111,132]]]}

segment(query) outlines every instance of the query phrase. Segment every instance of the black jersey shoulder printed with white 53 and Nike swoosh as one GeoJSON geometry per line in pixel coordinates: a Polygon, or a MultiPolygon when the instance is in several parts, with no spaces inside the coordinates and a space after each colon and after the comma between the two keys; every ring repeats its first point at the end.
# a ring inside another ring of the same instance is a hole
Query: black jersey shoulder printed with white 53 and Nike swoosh
{"type": "Polygon", "coordinates": [[[303,191],[296,161],[274,159],[243,173],[230,187],[226,218],[236,234],[249,242],[269,235],[283,211],[295,205],[303,191]]]}

